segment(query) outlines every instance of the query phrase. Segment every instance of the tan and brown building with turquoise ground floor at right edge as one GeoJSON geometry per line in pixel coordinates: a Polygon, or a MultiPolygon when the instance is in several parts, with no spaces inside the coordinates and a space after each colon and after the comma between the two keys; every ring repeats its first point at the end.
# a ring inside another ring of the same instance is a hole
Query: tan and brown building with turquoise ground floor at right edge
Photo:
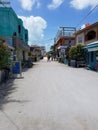
{"type": "Polygon", "coordinates": [[[85,46],[87,65],[92,69],[98,69],[98,22],[76,32],[77,44],[85,46]]]}

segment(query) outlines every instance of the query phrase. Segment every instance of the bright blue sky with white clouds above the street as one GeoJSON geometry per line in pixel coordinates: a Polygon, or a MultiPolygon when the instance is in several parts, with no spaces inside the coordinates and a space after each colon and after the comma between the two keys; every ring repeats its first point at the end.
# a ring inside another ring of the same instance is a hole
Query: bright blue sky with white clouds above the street
{"type": "MultiPolygon", "coordinates": [[[[8,0],[6,0],[8,1],[8,0]]],[[[29,44],[49,50],[60,26],[81,28],[98,21],[98,7],[84,21],[98,0],[10,0],[11,7],[29,30],[29,44]],[[77,26],[78,25],[78,26],[77,26]]]]}

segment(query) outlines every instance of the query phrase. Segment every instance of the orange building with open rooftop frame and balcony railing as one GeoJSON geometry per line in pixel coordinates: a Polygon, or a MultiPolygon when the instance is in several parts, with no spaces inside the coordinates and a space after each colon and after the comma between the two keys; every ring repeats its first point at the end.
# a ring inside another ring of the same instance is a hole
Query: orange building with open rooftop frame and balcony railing
{"type": "Polygon", "coordinates": [[[54,40],[55,53],[60,60],[66,57],[68,46],[75,46],[75,32],[75,27],[60,27],[54,40]]]}

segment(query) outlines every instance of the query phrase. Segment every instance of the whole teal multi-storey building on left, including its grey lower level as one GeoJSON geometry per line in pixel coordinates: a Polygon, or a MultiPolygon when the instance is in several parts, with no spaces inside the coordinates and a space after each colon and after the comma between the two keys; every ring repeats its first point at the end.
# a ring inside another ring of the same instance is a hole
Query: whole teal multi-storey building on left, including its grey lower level
{"type": "Polygon", "coordinates": [[[11,7],[0,7],[0,37],[15,48],[14,60],[28,60],[28,30],[11,7]]]}

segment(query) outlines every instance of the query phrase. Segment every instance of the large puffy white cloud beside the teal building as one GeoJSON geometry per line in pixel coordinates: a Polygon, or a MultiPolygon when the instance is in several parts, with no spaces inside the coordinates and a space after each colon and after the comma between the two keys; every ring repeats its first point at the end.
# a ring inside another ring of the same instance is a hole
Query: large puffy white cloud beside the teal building
{"type": "Polygon", "coordinates": [[[34,41],[41,41],[44,38],[44,29],[47,27],[47,22],[41,17],[24,17],[19,16],[24,23],[25,28],[29,32],[29,44],[32,44],[34,41]]]}

